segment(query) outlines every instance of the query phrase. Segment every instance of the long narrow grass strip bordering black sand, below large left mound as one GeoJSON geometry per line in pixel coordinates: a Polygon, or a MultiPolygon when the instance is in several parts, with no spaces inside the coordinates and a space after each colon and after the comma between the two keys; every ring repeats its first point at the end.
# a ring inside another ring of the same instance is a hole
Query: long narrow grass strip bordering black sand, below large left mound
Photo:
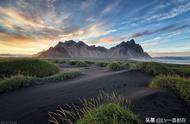
{"type": "Polygon", "coordinates": [[[72,79],[81,75],[79,71],[60,72],[58,74],[49,77],[31,77],[24,75],[15,75],[9,78],[0,80],[0,93],[13,91],[22,87],[27,87],[36,84],[42,84],[47,82],[64,81],[72,79]]]}

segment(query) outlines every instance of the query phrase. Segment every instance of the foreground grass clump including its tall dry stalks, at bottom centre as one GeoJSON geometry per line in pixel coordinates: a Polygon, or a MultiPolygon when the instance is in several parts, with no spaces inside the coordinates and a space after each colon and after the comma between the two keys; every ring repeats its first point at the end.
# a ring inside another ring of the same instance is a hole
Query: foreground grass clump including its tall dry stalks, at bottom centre
{"type": "Polygon", "coordinates": [[[95,98],[82,99],[81,104],[81,106],[67,105],[68,109],[60,107],[56,112],[50,112],[49,122],[53,124],[138,124],[140,122],[130,110],[127,100],[116,93],[102,92],[95,98]]]}

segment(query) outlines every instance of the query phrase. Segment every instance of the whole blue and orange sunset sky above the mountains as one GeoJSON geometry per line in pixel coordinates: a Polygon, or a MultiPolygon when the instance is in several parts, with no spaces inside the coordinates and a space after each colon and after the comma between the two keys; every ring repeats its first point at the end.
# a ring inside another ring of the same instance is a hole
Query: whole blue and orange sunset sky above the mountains
{"type": "Polygon", "coordinates": [[[190,0],[0,0],[0,54],[71,39],[107,48],[134,39],[151,56],[190,56],[190,0]]]}

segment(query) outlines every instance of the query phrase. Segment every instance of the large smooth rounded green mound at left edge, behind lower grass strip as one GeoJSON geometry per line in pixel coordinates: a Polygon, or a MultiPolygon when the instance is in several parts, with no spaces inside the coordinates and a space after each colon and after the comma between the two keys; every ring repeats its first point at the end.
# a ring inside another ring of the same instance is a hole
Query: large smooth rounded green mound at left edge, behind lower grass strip
{"type": "Polygon", "coordinates": [[[0,60],[0,77],[10,77],[18,74],[45,77],[57,72],[59,72],[59,68],[48,61],[29,58],[0,60]]]}

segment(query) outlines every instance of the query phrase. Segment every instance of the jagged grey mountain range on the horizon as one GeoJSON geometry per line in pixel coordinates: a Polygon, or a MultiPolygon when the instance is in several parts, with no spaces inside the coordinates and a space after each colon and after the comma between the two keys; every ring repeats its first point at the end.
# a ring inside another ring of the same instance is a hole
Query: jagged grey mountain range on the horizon
{"type": "Polygon", "coordinates": [[[82,41],[73,40],[59,42],[55,47],[36,54],[40,58],[75,58],[75,59],[148,59],[139,44],[132,39],[106,49],[101,46],[88,46],[82,41]]]}

